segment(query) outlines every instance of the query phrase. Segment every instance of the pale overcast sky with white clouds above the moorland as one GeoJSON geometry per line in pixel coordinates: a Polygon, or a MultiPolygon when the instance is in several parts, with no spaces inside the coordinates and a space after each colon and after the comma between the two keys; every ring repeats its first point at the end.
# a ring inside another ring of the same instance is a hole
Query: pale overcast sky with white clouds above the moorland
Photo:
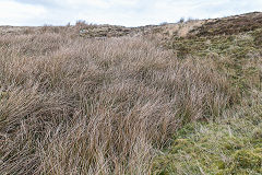
{"type": "Polygon", "coordinates": [[[262,11],[262,0],[0,0],[0,25],[139,26],[262,11]]]}

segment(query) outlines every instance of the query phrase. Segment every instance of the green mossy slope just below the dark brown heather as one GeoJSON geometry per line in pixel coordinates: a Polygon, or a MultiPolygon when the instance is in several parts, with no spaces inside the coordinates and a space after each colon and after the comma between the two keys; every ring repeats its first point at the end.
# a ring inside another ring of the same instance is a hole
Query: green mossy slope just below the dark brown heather
{"type": "Polygon", "coordinates": [[[262,30],[239,35],[175,37],[168,45],[177,57],[210,60],[239,94],[261,89],[262,30]]]}

